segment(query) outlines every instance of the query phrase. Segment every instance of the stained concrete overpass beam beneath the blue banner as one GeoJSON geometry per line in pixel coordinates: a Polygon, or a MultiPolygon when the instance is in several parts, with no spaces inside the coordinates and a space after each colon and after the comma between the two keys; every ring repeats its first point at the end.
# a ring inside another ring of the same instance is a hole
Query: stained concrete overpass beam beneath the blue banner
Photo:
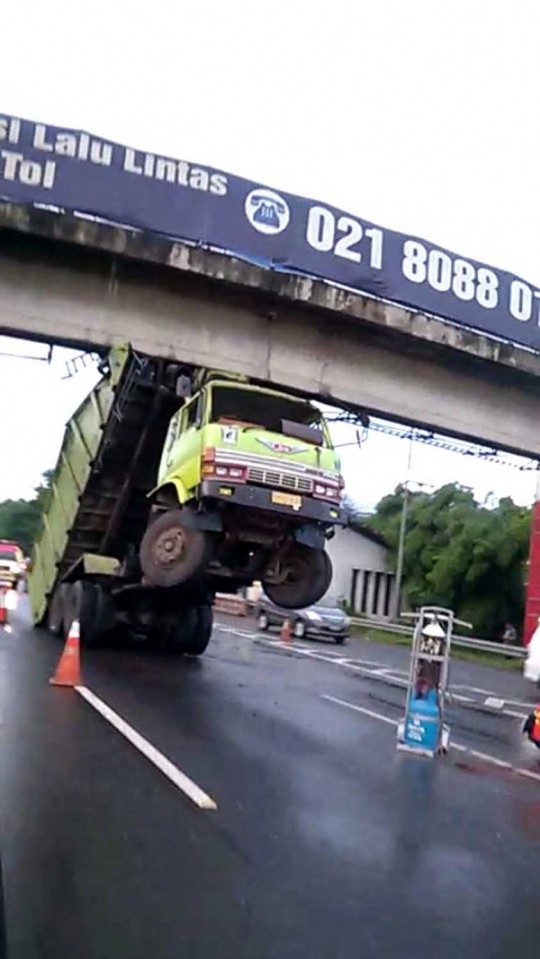
{"type": "Polygon", "coordinates": [[[238,371],[540,458],[540,354],[323,280],[0,203],[0,329],[238,371]]]}

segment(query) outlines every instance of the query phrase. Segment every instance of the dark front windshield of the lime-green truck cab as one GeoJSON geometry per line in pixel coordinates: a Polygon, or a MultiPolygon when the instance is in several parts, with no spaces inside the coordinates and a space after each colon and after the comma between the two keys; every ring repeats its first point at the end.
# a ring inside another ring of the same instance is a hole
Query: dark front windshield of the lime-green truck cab
{"type": "Polygon", "coordinates": [[[283,420],[323,428],[323,418],[319,410],[309,403],[278,394],[225,386],[216,386],[212,390],[210,418],[215,423],[238,423],[270,430],[272,433],[283,433],[283,420]]]}

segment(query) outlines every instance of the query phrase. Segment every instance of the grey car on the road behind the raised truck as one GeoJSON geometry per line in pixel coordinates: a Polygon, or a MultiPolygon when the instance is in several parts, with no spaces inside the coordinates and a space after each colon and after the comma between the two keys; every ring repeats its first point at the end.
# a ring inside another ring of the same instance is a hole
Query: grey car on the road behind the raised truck
{"type": "Polygon", "coordinates": [[[333,597],[323,596],[318,603],[307,609],[290,610],[275,606],[263,593],[257,604],[259,629],[281,627],[286,619],[291,623],[296,639],[318,636],[333,639],[335,643],[343,643],[350,633],[351,621],[333,597]]]}

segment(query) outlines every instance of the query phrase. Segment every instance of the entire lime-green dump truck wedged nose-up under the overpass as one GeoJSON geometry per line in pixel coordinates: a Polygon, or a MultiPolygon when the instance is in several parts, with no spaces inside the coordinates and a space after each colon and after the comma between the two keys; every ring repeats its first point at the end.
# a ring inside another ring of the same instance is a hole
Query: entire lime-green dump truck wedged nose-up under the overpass
{"type": "Polygon", "coordinates": [[[286,608],[327,592],[343,484],[315,406],[129,347],[102,374],[66,427],[29,575],[36,623],[200,655],[216,591],[261,580],[286,608]]]}

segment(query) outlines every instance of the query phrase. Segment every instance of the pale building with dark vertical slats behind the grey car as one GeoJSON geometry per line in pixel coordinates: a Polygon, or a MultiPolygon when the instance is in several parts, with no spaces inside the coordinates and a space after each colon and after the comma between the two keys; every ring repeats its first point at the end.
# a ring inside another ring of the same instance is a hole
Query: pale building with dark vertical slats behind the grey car
{"type": "Polygon", "coordinates": [[[384,538],[356,521],[338,529],[327,549],[334,567],[332,594],[358,616],[389,616],[395,573],[384,538]]]}

